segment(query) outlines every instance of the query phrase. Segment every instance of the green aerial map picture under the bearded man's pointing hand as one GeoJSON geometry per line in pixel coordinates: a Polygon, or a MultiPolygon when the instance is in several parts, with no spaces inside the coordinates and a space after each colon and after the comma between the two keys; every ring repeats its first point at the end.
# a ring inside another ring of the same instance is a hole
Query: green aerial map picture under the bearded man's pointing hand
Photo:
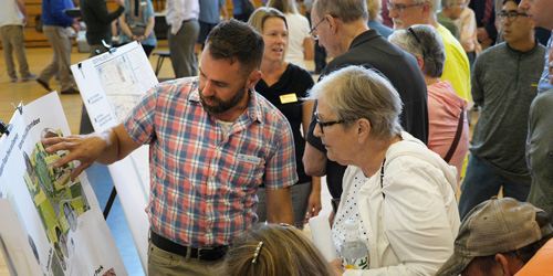
{"type": "MultiPolygon", "coordinates": [[[[42,130],[42,137],[58,136],[63,136],[61,130],[51,128],[42,130]]],[[[27,166],[23,178],[48,240],[55,252],[50,270],[53,275],[64,275],[64,270],[67,269],[66,262],[71,259],[69,254],[72,252],[67,246],[72,247],[73,243],[67,241],[67,234],[77,230],[77,217],[91,208],[79,178],[71,181],[73,163],[60,168],[53,167],[53,163],[66,152],[58,151],[50,155],[44,148],[45,146],[39,140],[30,155],[22,151],[27,166]]],[[[33,241],[30,242],[33,244],[33,241]]]]}

